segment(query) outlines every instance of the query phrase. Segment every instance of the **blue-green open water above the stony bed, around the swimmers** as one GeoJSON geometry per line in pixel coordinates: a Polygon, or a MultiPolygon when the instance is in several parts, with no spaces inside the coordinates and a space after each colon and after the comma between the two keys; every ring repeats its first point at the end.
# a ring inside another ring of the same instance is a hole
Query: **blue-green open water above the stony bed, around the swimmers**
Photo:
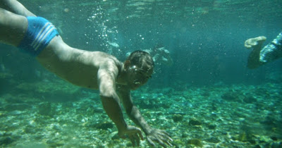
{"type": "MultiPolygon", "coordinates": [[[[246,67],[250,50],[244,47],[245,39],[264,35],[268,43],[281,32],[281,0],[20,2],[32,13],[50,20],[71,47],[105,51],[123,61],[128,52],[164,46],[171,53],[173,66],[158,65],[145,87],[158,89],[156,95],[159,92],[168,95],[171,93],[168,88],[184,91],[190,87],[246,85],[254,89],[258,85],[272,86],[273,83],[281,86],[281,59],[250,70],[246,67]]],[[[2,96],[22,82],[59,80],[39,66],[35,58],[15,47],[5,44],[0,44],[0,47],[2,96]]],[[[236,87],[237,90],[243,88],[236,87]]],[[[137,98],[138,93],[135,92],[137,98]]],[[[278,93],[278,100],[281,100],[281,90],[274,93],[278,93]]],[[[166,99],[169,101],[169,98],[166,99]]],[[[281,114],[279,102],[274,113],[281,114]]],[[[192,107],[188,101],[186,105],[192,107]]],[[[281,120],[281,116],[279,118],[281,120]]]]}

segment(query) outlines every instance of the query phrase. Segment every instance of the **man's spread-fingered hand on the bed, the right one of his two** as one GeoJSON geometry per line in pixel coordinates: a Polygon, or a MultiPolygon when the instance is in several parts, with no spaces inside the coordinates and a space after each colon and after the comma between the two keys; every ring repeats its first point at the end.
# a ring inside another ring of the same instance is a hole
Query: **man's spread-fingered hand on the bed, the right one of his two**
{"type": "Polygon", "coordinates": [[[173,141],[166,131],[154,128],[148,133],[147,140],[154,147],[156,146],[154,142],[158,142],[162,147],[166,147],[166,144],[172,147],[173,141]]]}

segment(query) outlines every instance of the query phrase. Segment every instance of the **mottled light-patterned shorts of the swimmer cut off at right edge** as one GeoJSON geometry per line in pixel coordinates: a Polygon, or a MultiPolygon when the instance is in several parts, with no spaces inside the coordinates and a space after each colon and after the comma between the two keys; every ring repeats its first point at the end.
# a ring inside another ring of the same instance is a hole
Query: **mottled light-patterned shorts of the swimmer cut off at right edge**
{"type": "Polygon", "coordinates": [[[269,63],[278,58],[282,58],[282,32],[267,44],[259,54],[259,61],[263,63],[269,63]]]}

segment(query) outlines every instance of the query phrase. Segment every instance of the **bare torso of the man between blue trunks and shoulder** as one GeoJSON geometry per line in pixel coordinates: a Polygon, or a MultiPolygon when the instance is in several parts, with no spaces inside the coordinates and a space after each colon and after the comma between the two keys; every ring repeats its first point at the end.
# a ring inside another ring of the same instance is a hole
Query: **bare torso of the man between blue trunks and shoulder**
{"type": "MultiPolygon", "coordinates": [[[[122,63],[101,51],[84,51],[69,47],[61,37],[54,38],[38,56],[39,63],[73,85],[99,90],[99,68],[111,67],[118,74],[122,63]]],[[[117,76],[117,75],[115,75],[117,76]]]]}

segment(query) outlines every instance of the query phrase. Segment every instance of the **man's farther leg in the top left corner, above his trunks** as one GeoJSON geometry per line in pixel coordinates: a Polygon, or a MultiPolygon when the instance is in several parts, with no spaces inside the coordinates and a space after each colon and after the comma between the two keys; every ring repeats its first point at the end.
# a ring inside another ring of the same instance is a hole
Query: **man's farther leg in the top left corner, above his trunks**
{"type": "Polygon", "coordinates": [[[16,0],[1,0],[0,1],[0,8],[4,8],[7,11],[11,11],[16,13],[20,16],[35,16],[35,14],[31,13],[30,11],[25,8],[20,2],[16,0]]]}

